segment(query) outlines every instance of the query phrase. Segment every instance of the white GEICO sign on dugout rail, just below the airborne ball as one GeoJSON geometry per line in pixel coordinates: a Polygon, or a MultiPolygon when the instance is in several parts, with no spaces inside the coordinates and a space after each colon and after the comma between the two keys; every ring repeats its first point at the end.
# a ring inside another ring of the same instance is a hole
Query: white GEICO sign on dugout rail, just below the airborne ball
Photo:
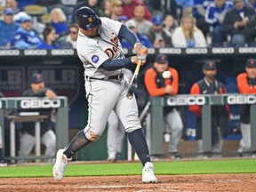
{"type": "Polygon", "coordinates": [[[170,97],[167,100],[168,106],[205,105],[206,99],[203,96],[170,97]]]}

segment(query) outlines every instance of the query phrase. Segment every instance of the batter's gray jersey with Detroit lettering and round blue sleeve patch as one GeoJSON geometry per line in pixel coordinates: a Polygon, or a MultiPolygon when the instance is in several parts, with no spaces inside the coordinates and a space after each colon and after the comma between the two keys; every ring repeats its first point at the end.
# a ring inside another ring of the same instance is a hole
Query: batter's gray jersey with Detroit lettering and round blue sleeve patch
{"type": "Polygon", "coordinates": [[[100,36],[90,38],[79,31],[76,42],[78,57],[84,63],[84,75],[95,78],[120,74],[121,70],[107,71],[99,67],[108,59],[124,59],[122,45],[117,37],[122,23],[102,17],[100,20],[100,36]]]}

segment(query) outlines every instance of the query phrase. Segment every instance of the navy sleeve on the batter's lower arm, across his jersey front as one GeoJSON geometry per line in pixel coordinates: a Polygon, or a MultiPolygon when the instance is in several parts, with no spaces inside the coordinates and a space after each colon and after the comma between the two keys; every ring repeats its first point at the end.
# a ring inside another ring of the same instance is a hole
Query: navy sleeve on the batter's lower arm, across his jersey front
{"type": "Polygon", "coordinates": [[[104,68],[105,70],[111,71],[120,68],[124,68],[128,65],[132,64],[131,57],[125,59],[117,59],[117,60],[105,60],[100,68],[104,68]]]}

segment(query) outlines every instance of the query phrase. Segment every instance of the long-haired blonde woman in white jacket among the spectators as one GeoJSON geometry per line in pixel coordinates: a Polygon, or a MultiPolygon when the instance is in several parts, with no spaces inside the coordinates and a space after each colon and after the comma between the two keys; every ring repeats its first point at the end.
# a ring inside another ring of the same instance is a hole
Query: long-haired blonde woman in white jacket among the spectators
{"type": "Polygon", "coordinates": [[[206,47],[206,41],[202,31],[196,28],[191,15],[183,16],[180,20],[180,27],[172,34],[174,47],[206,47]]]}

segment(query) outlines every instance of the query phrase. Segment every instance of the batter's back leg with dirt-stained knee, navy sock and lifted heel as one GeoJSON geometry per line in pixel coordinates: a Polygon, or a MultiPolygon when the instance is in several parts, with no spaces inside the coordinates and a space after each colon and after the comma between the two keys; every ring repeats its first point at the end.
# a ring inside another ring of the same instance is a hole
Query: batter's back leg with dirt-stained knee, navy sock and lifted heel
{"type": "Polygon", "coordinates": [[[84,130],[77,132],[66,149],[59,149],[53,165],[53,177],[61,180],[72,155],[84,148],[91,141],[100,138],[104,131],[108,116],[119,98],[120,84],[110,81],[85,81],[86,98],[88,100],[88,122],[84,130]]]}

